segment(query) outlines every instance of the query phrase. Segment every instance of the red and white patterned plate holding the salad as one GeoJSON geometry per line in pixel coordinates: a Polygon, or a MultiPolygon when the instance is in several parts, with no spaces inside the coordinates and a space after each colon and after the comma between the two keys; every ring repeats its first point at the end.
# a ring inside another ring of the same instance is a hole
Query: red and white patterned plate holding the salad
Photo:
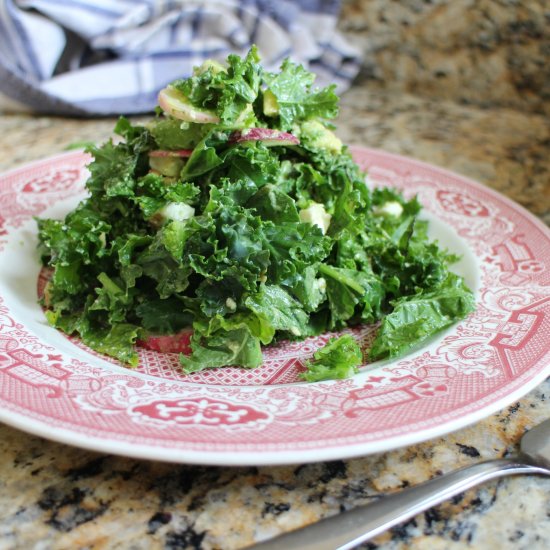
{"type": "MultiPolygon", "coordinates": [[[[128,369],[49,327],[37,303],[34,216],[84,196],[88,157],[71,152],[0,177],[0,420],[72,445],[219,465],[347,458],[456,430],[550,374],[550,233],[490,189],[415,160],[354,148],[369,185],[417,194],[475,289],[465,321],[348,380],[304,383],[327,336],[265,350],[256,370],[186,376],[177,356],[140,351],[128,369]]],[[[372,327],[353,331],[367,346],[372,327]]]]}

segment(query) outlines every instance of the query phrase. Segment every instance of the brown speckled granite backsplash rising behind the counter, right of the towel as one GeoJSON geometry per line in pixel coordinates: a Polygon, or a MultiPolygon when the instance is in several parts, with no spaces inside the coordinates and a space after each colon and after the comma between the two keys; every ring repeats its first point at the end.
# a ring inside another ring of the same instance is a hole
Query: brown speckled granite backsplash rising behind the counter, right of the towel
{"type": "Polygon", "coordinates": [[[344,0],[363,75],[436,99],[550,113],[548,0],[344,0]]]}

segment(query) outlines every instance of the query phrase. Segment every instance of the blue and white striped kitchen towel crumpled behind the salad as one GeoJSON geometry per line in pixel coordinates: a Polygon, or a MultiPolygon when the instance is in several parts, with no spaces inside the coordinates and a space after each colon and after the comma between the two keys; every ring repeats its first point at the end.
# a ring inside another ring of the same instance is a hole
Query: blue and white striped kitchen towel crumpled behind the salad
{"type": "MultiPolygon", "coordinates": [[[[337,32],[339,0],[0,0],[0,92],[35,112],[143,113],[204,59],[256,44],[344,90],[360,57],[337,32]]],[[[4,103],[5,105],[6,103],[4,103]]]]}

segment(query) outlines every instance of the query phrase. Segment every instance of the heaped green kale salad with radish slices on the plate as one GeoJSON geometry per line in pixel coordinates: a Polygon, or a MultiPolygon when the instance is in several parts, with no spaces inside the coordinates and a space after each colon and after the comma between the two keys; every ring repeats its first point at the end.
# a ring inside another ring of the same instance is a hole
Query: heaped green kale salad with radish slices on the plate
{"type": "Polygon", "coordinates": [[[48,322],[137,365],[136,343],[187,334],[185,372],[254,368],[262,346],[379,323],[365,357],[349,332],[308,381],[397,357],[474,309],[456,256],[428,238],[421,205],[369,189],[333,133],[334,86],[255,48],[197,67],[146,124],[90,146],[88,196],[40,219],[48,322]],[[174,336],[175,335],[175,336],[174,336]]]}

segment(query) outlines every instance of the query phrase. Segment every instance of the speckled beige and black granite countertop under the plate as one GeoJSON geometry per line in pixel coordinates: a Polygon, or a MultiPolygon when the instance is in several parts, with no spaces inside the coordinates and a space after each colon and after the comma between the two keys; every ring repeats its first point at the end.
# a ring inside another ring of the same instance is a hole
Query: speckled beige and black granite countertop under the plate
{"type": "MultiPolygon", "coordinates": [[[[102,141],[113,120],[0,118],[0,171],[102,141]]],[[[541,114],[458,105],[359,81],[343,98],[349,143],[475,180],[550,221],[550,128],[541,114]]],[[[352,460],[284,467],[174,465],[85,451],[0,425],[0,549],[237,549],[482,459],[511,455],[550,416],[550,380],[456,433],[352,460]]],[[[365,548],[548,547],[550,479],[467,491],[365,548]]]]}

